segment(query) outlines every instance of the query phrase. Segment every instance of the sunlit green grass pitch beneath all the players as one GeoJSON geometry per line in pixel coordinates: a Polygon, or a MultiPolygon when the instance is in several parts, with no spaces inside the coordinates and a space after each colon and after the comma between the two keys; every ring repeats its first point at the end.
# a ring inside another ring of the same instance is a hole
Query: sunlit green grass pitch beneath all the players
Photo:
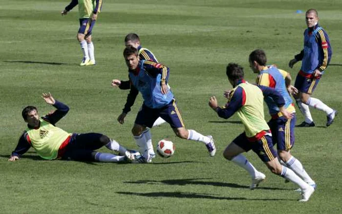
{"type": "MultiPolygon", "coordinates": [[[[296,11],[316,8],[333,57],[314,97],[342,111],[340,0],[104,0],[93,30],[97,65],[90,67],[79,66],[77,7],[60,14],[68,3],[0,0],[0,213],[342,213],[340,116],[326,128],[324,113],[312,110],[317,127],[296,128],[292,153],[318,184],[310,201],[299,203],[297,187],[273,175],[253,152],[246,156],[267,180],[255,191],[248,189],[247,172],[222,156],[243,127],[237,116],[219,119],[208,107],[211,95],[224,105],[221,95],[231,88],[228,63],[244,66],[246,80],[254,82],[248,55],[256,48],[294,79],[300,63],[293,69],[287,64],[301,50],[306,27],[304,13],[296,11]],[[116,118],[128,91],[110,86],[112,79],[127,79],[122,51],[130,32],[170,67],[186,127],[213,135],[216,156],[209,157],[201,143],[176,138],[164,124],[152,129],[153,143],[168,137],[176,152],[151,164],[45,161],[33,149],[8,162],[25,129],[22,108],[49,112],[53,107],[40,97],[47,91],[70,107],[60,128],[101,132],[135,148],[130,129],[141,96],[120,125],[116,118]]],[[[302,120],[298,113],[298,123],[302,120]]]]}

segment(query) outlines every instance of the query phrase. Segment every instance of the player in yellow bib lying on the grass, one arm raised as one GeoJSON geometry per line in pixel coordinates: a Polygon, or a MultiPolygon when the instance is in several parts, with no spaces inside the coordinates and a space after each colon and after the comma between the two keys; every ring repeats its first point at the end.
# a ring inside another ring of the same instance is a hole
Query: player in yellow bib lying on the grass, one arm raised
{"type": "Polygon", "coordinates": [[[30,147],[39,156],[47,160],[64,159],[75,161],[122,162],[134,160],[135,157],[115,140],[100,133],[68,133],[55,124],[69,111],[69,107],[55,100],[50,93],[43,93],[43,99],[57,108],[50,114],[39,117],[38,109],[33,106],[22,110],[22,117],[27,123],[16,149],[9,161],[16,161],[30,147]],[[106,146],[109,150],[119,151],[125,156],[102,153],[95,150],[106,146]]]}

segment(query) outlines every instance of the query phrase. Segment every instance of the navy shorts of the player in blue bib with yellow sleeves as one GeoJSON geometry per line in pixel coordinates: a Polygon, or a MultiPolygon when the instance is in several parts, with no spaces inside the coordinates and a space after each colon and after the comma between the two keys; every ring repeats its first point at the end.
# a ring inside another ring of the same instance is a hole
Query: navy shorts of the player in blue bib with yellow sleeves
{"type": "Polygon", "coordinates": [[[268,126],[271,128],[273,144],[277,144],[277,150],[290,150],[295,144],[296,114],[292,119],[284,117],[271,119],[268,126]]]}

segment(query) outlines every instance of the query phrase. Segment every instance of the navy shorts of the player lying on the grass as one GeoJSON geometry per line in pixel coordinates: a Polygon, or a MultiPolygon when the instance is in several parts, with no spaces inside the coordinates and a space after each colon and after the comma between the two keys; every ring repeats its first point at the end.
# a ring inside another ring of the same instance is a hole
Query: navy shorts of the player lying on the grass
{"type": "Polygon", "coordinates": [[[100,133],[72,134],[62,159],[93,161],[94,150],[103,147],[103,144],[100,141],[102,136],[103,134],[100,133]]]}

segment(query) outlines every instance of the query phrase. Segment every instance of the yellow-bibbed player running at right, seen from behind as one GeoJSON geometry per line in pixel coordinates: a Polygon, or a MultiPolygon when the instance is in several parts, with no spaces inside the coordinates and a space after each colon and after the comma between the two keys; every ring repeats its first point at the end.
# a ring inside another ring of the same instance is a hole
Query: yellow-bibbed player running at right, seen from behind
{"type": "Polygon", "coordinates": [[[284,98],[270,87],[255,86],[245,82],[243,79],[243,68],[238,64],[228,64],[226,73],[229,82],[234,87],[232,90],[225,91],[224,93],[228,103],[223,108],[218,107],[216,97],[213,96],[209,100],[209,106],[214,109],[219,117],[225,119],[230,118],[236,112],[245,127],[245,131],[227,146],[223,156],[249,172],[252,177],[250,188],[255,189],[265,179],[265,175],[257,171],[246,157],[241,154],[242,152],[253,150],[270,171],[299,185],[303,192],[300,201],[309,200],[311,194],[315,191],[314,188],[305,183],[291,169],[279,163],[277,152],[273,149],[270,128],[264,119],[264,96],[272,97],[284,117],[292,117],[284,107],[284,98]]]}

